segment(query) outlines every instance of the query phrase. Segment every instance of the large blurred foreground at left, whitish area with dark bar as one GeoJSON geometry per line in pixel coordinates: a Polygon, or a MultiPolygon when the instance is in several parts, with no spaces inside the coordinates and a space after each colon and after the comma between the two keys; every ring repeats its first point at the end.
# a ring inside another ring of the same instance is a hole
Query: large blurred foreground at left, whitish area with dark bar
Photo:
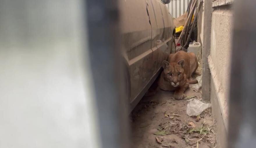
{"type": "Polygon", "coordinates": [[[115,6],[0,1],[0,147],[124,147],[115,6]]]}

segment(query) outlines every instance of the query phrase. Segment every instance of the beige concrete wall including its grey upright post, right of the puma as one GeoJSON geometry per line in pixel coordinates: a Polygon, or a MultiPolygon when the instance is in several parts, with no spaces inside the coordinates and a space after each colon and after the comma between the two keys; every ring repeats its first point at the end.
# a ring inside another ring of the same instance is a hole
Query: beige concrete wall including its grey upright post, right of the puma
{"type": "Polygon", "coordinates": [[[202,25],[198,28],[198,38],[203,45],[202,96],[205,100],[210,98],[212,104],[218,148],[227,147],[232,3],[233,0],[204,0],[204,8],[199,15],[202,25]]]}

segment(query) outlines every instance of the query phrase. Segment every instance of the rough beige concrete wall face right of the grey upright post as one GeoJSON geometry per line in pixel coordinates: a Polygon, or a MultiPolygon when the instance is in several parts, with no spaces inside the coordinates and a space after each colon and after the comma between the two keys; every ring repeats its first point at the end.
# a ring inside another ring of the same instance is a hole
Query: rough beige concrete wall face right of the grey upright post
{"type": "Polygon", "coordinates": [[[211,72],[210,99],[217,127],[219,148],[227,147],[228,98],[230,88],[230,62],[233,14],[231,3],[212,3],[211,48],[208,64],[211,72]]]}

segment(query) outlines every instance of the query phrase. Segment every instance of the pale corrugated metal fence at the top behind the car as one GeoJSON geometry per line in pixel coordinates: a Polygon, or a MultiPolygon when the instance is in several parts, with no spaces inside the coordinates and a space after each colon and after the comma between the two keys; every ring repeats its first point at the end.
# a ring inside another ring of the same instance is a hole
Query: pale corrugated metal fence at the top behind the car
{"type": "Polygon", "coordinates": [[[174,18],[177,18],[187,11],[188,5],[189,0],[171,0],[167,7],[169,8],[170,14],[174,18]]]}

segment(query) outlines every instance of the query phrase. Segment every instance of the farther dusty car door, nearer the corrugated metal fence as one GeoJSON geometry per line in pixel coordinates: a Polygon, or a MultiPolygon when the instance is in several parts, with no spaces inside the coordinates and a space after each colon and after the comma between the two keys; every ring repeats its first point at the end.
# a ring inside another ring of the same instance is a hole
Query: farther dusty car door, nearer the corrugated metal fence
{"type": "Polygon", "coordinates": [[[154,73],[159,71],[162,61],[166,60],[171,51],[172,24],[168,14],[168,8],[158,0],[150,2],[149,9],[152,25],[152,51],[154,73]],[[152,14],[151,14],[152,13],[152,14]]]}

